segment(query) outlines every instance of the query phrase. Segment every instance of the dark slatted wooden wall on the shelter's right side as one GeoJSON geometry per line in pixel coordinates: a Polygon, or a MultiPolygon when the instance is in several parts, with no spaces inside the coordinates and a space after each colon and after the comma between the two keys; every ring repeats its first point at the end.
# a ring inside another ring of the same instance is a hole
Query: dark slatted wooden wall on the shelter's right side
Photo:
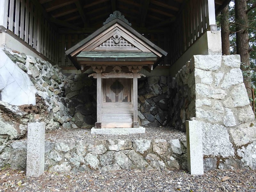
{"type": "Polygon", "coordinates": [[[190,0],[180,13],[171,31],[171,65],[207,30],[209,27],[208,0],[190,0]]]}

